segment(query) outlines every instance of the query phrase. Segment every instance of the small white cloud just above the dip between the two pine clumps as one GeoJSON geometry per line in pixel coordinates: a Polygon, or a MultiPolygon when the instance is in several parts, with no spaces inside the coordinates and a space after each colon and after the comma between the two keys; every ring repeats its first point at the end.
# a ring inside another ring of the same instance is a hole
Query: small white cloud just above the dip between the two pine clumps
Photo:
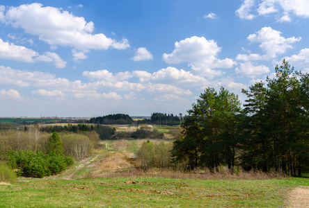
{"type": "Polygon", "coordinates": [[[240,67],[235,69],[235,72],[241,73],[251,78],[255,78],[255,76],[258,76],[262,73],[269,73],[269,68],[264,65],[254,66],[251,62],[245,62],[241,63],[240,67]]]}

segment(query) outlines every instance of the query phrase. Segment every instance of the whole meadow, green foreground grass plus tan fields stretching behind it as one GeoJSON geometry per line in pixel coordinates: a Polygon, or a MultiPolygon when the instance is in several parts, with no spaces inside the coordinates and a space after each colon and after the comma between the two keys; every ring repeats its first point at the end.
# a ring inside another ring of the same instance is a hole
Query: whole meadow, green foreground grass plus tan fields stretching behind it
{"type": "MultiPolygon", "coordinates": [[[[126,132],[137,126],[116,126],[126,132]]],[[[67,171],[49,177],[18,177],[0,183],[0,207],[292,207],[290,193],[309,191],[309,179],[280,174],[231,174],[135,168],[134,155],[143,142],[164,141],[177,129],[154,126],[164,139],[100,141],[93,155],[67,171]]]]}

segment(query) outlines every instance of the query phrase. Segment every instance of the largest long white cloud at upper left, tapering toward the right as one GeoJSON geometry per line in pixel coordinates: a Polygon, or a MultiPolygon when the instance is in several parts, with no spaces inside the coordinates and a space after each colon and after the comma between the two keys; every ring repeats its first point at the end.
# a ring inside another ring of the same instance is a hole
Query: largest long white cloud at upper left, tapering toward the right
{"type": "Polygon", "coordinates": [[[23,4],[7,10],[1,6],[0,21],[38,35],[40,40],[52,46],[72,46],[79,50],[129,47],[125,38],[117,42],[102,33],[93,34],[93,21],[87,22],[84,17],[76,17],[61,8],[44,7],[41,3],[23,4]]]}

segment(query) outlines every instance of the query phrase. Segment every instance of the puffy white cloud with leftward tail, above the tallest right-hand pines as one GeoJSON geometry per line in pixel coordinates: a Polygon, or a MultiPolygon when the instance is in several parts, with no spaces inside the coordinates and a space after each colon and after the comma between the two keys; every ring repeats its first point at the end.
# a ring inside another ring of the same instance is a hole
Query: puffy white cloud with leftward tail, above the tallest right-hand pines
{"type": "Polygon", "coordinates": [[[276,58],[277,55],[283,54],[287,49],[292,49],[295,42],[299,42],[301,37],[288,37],[282,36],[280,31],[276,31],[271,27],[264,27],[260,29],[257,33],[251,34],[247,39],[253,43],[260,43],[260,49],[264,51],[264,55],[259,55],[257,53],[253,54],[239,54],[237,55],[237,60],[269,60],[271,58],[276,58]]]}

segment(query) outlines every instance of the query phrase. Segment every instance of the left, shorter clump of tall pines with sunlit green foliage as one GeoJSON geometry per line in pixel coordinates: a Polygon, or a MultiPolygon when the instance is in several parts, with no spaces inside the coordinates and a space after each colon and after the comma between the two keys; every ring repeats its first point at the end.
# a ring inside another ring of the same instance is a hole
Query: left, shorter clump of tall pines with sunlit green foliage
{"type": "Polygon", "coordinates": [[[235,166],[237,130],[240,114],[238,96],[221,87],[205,89],[182,124],[182,135],[174,141],[174,162],[187,168],[207,166],[218,170],[220,165],[235,166]]]}

